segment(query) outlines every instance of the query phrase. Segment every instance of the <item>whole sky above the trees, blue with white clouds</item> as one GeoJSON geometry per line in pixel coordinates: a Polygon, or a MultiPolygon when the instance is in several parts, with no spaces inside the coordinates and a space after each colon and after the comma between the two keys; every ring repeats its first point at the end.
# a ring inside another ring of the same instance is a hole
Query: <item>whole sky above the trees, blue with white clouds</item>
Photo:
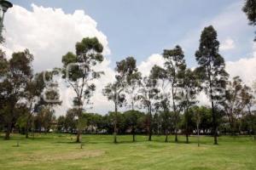
{"type": "MultiPolygon", "coordinates": [[[[146,75],[154,64],[162,65],[164,48],[182,46],[187,63],[195,67],[195,50],[205,26],[218,31],[220,53],[231,77],[236,75],[250,84],[256,80],[256,45],[253,27],[241,11],[243,0],[11,0],[4,20],[3,49],[8,55],[30,49],[34,70],[61,67],[61,56],[74,50],[83,37],[98,37],[106,57],[99,66],[106,75],[96,82],[92,111],[102,114],[113,110],[102,96],[102,87],[113,81],[115,62],[127,56],[137,59],[146,75]]],[[[61,87],[63,106],[68,107],[72,92],[61,87]],[[64,90],[65,89],[65,90],[64,90]],[[66,97],[65,97],[66,96],[66,97]]]]}

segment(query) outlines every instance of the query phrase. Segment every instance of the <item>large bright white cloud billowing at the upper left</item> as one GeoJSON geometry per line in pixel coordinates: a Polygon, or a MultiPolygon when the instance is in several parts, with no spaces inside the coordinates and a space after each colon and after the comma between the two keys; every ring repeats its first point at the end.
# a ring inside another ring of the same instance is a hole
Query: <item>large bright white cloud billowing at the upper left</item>
{"type": "Polygon", "coordinates": [[[104,47],[103,54],[110,54],[107,37],[83,10],[65,14],[61,8],[32,4],[32,11],[28,11],[15,5],[6,14],[4,26],[6,52],[10,55],[29,48],[36,71],[60,67],[62,55],[74,51],[75,43],[83,37],[97,37],[104,47]]]}

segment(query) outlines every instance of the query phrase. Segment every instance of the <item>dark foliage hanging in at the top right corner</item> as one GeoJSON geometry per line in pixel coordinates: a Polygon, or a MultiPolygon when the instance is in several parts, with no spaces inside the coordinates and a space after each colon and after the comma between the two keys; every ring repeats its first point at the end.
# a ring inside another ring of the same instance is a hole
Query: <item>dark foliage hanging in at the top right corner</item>
{"type": "MultiPolygon", "coordinates": [[[[255,0],[246,0],[243,8],[243,12],[247,14],[247,19],[249,20],[249,25],[256,25],[256,2],[255,0]]],[[[256,41],[256,38],[254,38],[256,41]]]]}

